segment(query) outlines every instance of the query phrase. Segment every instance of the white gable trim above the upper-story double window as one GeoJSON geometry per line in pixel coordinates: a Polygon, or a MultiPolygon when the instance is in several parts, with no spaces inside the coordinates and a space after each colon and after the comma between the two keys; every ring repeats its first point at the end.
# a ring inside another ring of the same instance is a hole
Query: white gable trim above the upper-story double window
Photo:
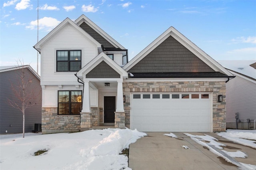
{"type": "Polygon", "coordinates": [[[49,32],[42,40],[40,40],[36,45],[34,45],[34,48],[41,52],[42,47],[50,41],[51,38],[53,38],[56,34],[58,34],[64,27],[67,25],[73,26],[73,28],[76,28],[82,35],[84,35],[88,40],[90,40],[92,43],[97,45],[98,47],[101,47],[101,44],[97,42],[92,36],[90,36],[87,32],[85,32],[80,26],[78,26],[76,23],[74,23],[69,18],[66,18],[64,21],[62,21],[58,26],[56,26],[51,32],[49,32]]]}

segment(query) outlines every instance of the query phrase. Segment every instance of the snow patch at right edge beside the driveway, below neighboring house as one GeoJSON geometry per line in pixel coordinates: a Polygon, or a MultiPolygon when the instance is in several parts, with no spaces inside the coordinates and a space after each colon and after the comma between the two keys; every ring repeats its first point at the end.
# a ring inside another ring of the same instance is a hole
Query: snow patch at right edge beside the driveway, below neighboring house
{"type": "Polygon", "coordinates": [[[232,142],[256,148],[256,130],[232,130],[228,129],[227,132],[216,133],[232,142]]]}

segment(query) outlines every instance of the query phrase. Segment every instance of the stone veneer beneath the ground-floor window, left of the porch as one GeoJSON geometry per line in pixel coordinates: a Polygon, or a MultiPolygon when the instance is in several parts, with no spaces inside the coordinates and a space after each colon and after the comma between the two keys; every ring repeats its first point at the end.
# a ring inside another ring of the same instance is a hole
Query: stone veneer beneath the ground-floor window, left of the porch
{"type": "Polygon", "coordinates": [[[80,130],[80,115],[58,115],[57,107],[42,108],[42,134],[80,130]]]}

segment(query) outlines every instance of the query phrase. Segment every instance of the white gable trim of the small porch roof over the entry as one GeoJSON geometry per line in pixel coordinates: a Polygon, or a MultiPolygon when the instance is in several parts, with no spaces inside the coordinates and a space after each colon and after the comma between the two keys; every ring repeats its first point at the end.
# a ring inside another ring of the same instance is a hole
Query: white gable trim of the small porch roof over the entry
{"type": "Polygon", "coordinates": [[[94,69],[101,61],[105,61],[112,69],[114,69],[117,73],[119,73],[122,77],[128,78],[128,73],[120,67],[115,61],[110,59],[104,52],[101,52],[94,59],[92,59],[88,64],[86,64],[80,71],[77,72],[77,76],[80,79],[83,79],[83,75],[89,73],[92,69],[94,69]]]}

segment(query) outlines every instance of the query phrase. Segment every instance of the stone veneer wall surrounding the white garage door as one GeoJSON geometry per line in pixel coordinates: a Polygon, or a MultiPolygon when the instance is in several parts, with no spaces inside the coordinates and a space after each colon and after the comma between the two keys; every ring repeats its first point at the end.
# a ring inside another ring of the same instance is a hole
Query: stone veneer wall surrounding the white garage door
{"type": "Polygon", "coordinates": [[[225,81],[123,82],[123,93],[126,97],[125,126],[128,128],[130,128],[130,93],[132,92],[213,92],[213,132],[226,130],[225,81]],[[223,102],[218,102],[218,95],[223,95],[223,102]]]}

